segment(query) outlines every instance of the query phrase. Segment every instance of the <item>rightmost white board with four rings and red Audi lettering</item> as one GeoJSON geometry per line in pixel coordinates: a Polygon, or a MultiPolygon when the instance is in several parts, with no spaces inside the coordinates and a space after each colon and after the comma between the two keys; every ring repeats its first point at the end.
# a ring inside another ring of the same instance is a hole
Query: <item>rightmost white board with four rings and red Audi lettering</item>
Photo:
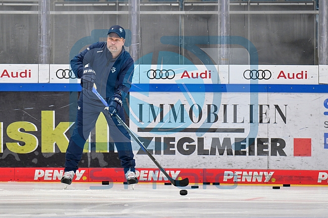
{"type": "Polygon", "coordinates": [[[318,84],[318,65],[229,65],[229,84],[318,84]]]}

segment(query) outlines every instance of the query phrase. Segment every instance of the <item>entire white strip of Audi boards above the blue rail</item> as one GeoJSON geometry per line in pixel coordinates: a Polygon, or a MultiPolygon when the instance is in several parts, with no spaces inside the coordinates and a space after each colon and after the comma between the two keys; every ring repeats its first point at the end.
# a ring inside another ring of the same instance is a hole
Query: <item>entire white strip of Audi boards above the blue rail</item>
{"type": "MultiPolygon", "coordinates": [[[[326,71],[326,65],[137,64],[132,83],[314,85],[327,83],[326,71]]],[[[80,83],[80,80],[75,78],[69,64],[0,64],[0,83],[80,83]]]]}

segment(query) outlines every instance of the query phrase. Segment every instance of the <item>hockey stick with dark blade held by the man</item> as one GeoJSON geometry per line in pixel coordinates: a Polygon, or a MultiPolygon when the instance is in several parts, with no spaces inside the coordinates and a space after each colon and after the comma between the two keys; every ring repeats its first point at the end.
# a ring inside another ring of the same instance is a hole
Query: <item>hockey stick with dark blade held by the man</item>
{"type": "MultiPolygon", "coordinates": [[[[102,96],[97,92],[97,90],[94,87],[92,88],[92,92],[106,106],[106,109],[109,109],[108,103],[102,98],[102,96]]],[[[156,159],[148,152],[148,150],[146,149],[146,147],[144,147],[144,145],[141,143],[141,141],[132,133],[131,129],[125,124],[125,122],[123,122],[123,120],[121,119],[121,117],[117,113],[114,113],[114,115],[116,116],[116,118],[119,121],[119,123],[129,132],[129,134],[134,138],[134,140],[137,141],[137,143],[139,144],[139,146],[141,147],[141,149],[148,155],[148,157],[152,160],[152,162],[154,162],[154,164],[158,167],[158,169],[170,180],[170,182],[174,186],[185,187],[185,186],[187,186],[189,184],[189,179],[188,178],[185,178],[185,179],[182,179],[182,180],[175,180],[172,177],[170,177],[169,174],[156,161],[156,159]]]]}

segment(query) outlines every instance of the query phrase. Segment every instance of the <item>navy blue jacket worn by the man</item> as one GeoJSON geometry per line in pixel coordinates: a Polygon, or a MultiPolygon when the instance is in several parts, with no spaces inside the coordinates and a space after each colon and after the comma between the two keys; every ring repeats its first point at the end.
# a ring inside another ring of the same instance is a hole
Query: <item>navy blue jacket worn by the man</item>
{"type": "MultiPolygon", "coordinates": [[[[114,93],[120,94],[122,99],[128,94],[134,72],[134,62],[124,47],[120,55],[113,59],[107,49],[107,42],[96,42],[71,60],[71,67],[77,78],[81,78],[83,67],[89,64],[96,72],[96,86],[100,95],[108,102],[114,93]]],[[[92,101],[99,101],[96,95],[82,90],[81,97],[92,101]]]]}

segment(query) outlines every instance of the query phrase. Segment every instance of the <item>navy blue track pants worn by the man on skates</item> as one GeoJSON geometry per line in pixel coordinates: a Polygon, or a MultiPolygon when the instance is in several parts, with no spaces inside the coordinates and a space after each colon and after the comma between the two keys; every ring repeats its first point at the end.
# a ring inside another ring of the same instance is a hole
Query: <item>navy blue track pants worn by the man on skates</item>
{"type": "MultiPolygon", "coordinates": [[[[126,129],[119,124],[115,116],[111,116],[104,110],[104,105],[101,102],[80,97],[78,101],[78,110],[75,121],[75,128],[70,138],[66,151],[65,172],[78,169],[78,163],[81,160],[83,148],[86,140],[89,137],[90,131],[94,128],[96,120],[103,112],[107,124],[110,128],[110,134],[115,142],[121,165],[126,173],[129,169],[135,171],[135,160],[131,146],[131,137],[126,129]]],[[[121,109],[119,116],[125,121],[124,110],[121,109]]]]}

